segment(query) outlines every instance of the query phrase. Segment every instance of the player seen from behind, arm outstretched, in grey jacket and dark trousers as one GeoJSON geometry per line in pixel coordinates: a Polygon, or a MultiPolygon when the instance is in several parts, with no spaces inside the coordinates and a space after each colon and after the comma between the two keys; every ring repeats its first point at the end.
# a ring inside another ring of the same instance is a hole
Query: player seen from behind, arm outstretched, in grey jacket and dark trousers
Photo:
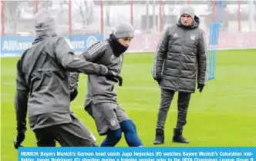
{"type": "Polygon", "coordinates": [[[76,58],[66,38],[56,35],[51,13],[35,14],[36,39],[17,64],[15,148],[25,139],[26,114],[38,146],[96,146],[93,134],[70,111],[69,71],[115,76],[102,64],[76,58]]]}

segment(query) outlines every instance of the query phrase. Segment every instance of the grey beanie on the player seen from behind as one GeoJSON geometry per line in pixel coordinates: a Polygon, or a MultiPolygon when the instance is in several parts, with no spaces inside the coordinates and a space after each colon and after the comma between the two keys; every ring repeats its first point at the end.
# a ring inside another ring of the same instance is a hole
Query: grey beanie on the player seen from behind
{"type": "Polygon", "coordinates": [[[56,19],[49,10],[39,10],[35,13],[35,35],[56,35],[56,19]]]}

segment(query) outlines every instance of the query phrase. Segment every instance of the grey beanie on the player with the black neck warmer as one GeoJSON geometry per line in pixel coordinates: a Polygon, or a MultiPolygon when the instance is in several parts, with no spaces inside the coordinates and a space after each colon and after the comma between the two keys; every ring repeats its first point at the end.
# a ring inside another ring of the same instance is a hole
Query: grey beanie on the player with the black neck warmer
{"type": "Polygon", "coordinates": [[[113,35],[115,35],[116,38],[133,38],[133,26],[130,24],[116,25],[116,28],[113,30],[113,35]]]}

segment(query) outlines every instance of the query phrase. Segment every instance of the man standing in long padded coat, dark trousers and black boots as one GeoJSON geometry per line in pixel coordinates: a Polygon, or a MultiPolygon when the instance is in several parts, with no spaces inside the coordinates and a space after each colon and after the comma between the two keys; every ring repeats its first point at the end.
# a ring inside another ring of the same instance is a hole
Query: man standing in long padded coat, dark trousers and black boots
{"type": "Polygon", "coordinates": [[[178,114],[173,142],[189,143],[183,136],[183,127],[187,123],[190,96],[195,92],[196,81],[200,92],[207,81],[207,47],[199,22],[194,8],[189,5],[181,8],[177,25],[163,32],[155,52],[153,79],[160,85],[161,101],[154,144],[164,143],[164,124],[176,91],[178,114]]]}

